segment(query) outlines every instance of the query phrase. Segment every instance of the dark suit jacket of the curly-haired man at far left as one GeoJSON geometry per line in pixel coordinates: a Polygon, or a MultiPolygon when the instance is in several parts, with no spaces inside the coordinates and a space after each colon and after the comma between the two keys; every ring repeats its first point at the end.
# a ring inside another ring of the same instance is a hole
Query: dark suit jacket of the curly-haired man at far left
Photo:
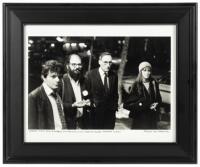
{"type": "Polygon", "coordinates": [[[43,86],[28,96],[28,128],[55,129],[53,109],[43,86]]]}

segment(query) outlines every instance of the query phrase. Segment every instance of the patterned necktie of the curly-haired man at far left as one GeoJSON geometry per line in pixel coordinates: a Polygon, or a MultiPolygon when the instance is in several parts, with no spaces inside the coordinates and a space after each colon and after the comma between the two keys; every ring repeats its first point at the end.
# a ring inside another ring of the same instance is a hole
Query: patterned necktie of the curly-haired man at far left
{"type": "Polygon", "coordinates": [[[59,113],[59,117],[60,117],[60,120],[61,120],[62,129],[66,129],[67,125],[66,125],[65,116],[64,116],[64,112],[63,112],[60,100],[59,100],[59,98],[58,98],[56,93],[52,93],[52,96],[56,100],[56,105],[57,105],[57,108],[58,108],[58,113],[59,113]]]}

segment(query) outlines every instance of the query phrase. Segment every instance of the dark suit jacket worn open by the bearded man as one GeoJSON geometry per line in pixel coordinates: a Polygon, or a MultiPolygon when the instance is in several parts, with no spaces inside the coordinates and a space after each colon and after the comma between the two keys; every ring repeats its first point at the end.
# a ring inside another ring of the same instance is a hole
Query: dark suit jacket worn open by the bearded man
{"type": "MultiPolygon", "coordinates": [[[[81,95],[83,98],[82,92],[85,90],[84,78],[81,78],[79,82],[81,87],[81,95]]],[[[75,119],[77,114],[77,108],[72,107],[72,104],[76,101],[76,98],[68,74],[65,74],[63,76],[62,100],[66,120],[70,118],[75,119]]],[[[86,108],[83,108],[83,116],[85,116],[86,112],[86,108]]]]}

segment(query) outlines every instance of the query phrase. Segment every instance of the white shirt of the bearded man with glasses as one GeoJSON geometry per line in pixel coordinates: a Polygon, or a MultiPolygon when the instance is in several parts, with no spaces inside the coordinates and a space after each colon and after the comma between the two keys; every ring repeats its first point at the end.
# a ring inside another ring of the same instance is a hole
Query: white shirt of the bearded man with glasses
{"type": "MultiPolygon", "coordinates": [[[[82,101],[82,95],[81,95],[81,85],[80,85],[80,82],[79,81],[75,81],[74,79],[72,79],[69,76],[69,79],[70,79],[70,82],[72,84],[72,88],[73,88],[73,91],[74,91],[74,95],[75,95],[75,99],[76,99],[76,102],[79,102],[79,101],[82,101]]],[[[77,108],[77,115],[76,117],[81,117],[83,115],[83,108],[77,108]]]]}

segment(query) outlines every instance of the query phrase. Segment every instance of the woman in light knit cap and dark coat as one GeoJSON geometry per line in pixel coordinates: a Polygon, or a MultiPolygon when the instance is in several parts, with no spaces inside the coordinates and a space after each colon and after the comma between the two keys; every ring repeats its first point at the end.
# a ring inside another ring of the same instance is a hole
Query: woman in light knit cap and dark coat
{"type": "Polygon", "coordinates": [[[129,117],[133,118],[132,129],[157,129],[161,102],[158,83],[152,77],[151,64],[140,63],[138,77],[123,105],[130,111],[129,117]]]}

